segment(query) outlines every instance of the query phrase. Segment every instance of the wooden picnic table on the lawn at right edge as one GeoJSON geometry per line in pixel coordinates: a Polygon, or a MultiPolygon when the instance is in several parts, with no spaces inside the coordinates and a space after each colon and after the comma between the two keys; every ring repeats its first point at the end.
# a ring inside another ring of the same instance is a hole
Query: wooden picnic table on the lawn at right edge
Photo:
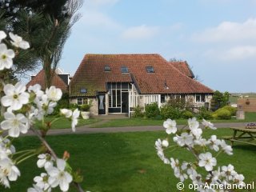
{"type": "Polygon", "coordinates": [[[242,142],[256,146],[256,142],[254,142],[254,140],[256,140],[255,128],[230,127],[230,129],[234,130],[233,136],[223,138],[229,140],[231,146],[233,146],[234,142],[242,142]]]}

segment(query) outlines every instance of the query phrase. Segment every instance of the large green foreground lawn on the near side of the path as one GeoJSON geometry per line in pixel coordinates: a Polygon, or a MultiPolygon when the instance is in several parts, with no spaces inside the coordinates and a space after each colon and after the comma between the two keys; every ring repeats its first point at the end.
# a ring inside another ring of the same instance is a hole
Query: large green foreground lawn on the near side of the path
{"type": "MultiPolygon", "coordinates": [[[[206,135],[231,135],[230,129],[207,130],[206,135]]],[[[158,138],[166,138],[164,131],[115,133],[115,134],[78,134],[49,136],[47,141],[62,157],[64,150],[70,152],[70,165],[81,169],[84,175],[82,187],[90,191],[104,192],[171,192],[177,191],[178,179],[174,178],[170,166],[164,165],[157,157],[154,142],[158,138]]],[[[14,142],[18,150],[39,146],[37,138],[22,137],[14,142]]],[[[180,160],[190,160],[193,157],[186,150],[173,152],[180,160]]],[[[19,169],[22,177],[11,183],[5,192],[26,191],[32,186],[35,175],[41,170],[36,168],[36,158],[23,162],[19,169]]],[[[193,161],[193,160],[192,160],[193,161]]],[[[244,174],[246,182],[256,182],[253,167],[256,161],[255,147],[236,144],[234,155],[218,156],[219,165],[231,163],[235,170],[244,174]]],[[[188,186],[188,183],[186,183],[188,186]]],[[[54,190],[55,191],[55,190],[54,190]]],[[[57,190],[58,191],[58,190],[57,190]]],[[[71,186],[71,192],[76,191],[71,186]]],[[[185,191],[192,191],[185,189],[185,191]]],[[[242,190],[239,190],[242,191],[242,190]]]]}

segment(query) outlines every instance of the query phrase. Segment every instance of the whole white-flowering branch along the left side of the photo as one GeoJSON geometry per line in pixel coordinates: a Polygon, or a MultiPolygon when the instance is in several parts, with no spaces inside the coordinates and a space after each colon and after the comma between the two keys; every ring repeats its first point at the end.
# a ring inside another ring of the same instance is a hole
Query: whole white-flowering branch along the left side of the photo
{"type": "MultiPolygon", "coordinates": [[[[17,56],[14,50],[8,49],[6,44],[2,42],[2,40],[7,42],[6,38],[6,33],[0,30],[0,70],[10,70],[13,66],[13,58],[17,56]]],[[[9,38],[11,41],[8,45],[24,50],[30,47],[29,43],[22,40],[22,37],[17,34],[9,33],[9,38]]],[[[16,49],[16,51],[18,50],[16,49]]],[[[65,192],[69,190],[71,182],[74,183],[78,192],[84,192],[82,186],[78,183],[82,182],[82,176],[78,172],[74,172],[67,162],[70,155],[66,152],[63,158],[58,158],[45,140],[51,124],[58,120],[54,119],[52,122],[45,124],[45,117],[54,112],[54,107],[62,98],[62,90],[50,86],[46,91],[42,91],[41,86],[36,84],[28,87],[26,91],[26,86],[22,82],[12,85],[6,84],[3,78],[0,81],[5,94],[1,98],[1,104],[7,107],[4,120],[1,122],[1,129],[8,131],[7,136],[2,138],[3,131],[0,130],[0,184],[10,188],[10,181],[16,181],[21,175],[15,165],[39,154],[37,165],[39,168],[44,167],[46,173],[36,176],[34,178],[36,183],[27,192],[50,192],[57,186],[65,192]],[[33,127],[36,120],[42,122],[40,131],[33,127]],[[20,134],[26,134],[29,129],[39,138],[44,148],[16,152],[8,137],[18,138],[20,134]],[[46,154],[41,154],[45,151],[46,154]],[[13,159],[14,156],[15,159],[13,159]]],[[[74,111],[62,109],[61,114],[71,119],[72,130],[75,131],[80,111],[78,109],[74,111]]]]}

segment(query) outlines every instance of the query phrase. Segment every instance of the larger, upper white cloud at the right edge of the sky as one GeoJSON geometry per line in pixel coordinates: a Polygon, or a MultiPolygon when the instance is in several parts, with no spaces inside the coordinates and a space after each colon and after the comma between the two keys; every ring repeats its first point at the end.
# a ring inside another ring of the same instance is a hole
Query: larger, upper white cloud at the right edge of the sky
{"type": "Polygon", "coordinates": [[[217,27],[192,35],[196,42],[242,42],[256,40],[256,18],[246,22],[222,22],[217,27]]]}

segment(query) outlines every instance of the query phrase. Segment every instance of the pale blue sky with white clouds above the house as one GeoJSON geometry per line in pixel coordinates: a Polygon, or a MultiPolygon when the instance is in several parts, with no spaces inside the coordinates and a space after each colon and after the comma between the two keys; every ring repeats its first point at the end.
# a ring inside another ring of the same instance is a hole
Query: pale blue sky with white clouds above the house
{"type": "Polygon", "coordinates": [[[85,54],[186,60],[213,90],[256,92],[256,0],[86,0],[60,68],[85,54]]]}

